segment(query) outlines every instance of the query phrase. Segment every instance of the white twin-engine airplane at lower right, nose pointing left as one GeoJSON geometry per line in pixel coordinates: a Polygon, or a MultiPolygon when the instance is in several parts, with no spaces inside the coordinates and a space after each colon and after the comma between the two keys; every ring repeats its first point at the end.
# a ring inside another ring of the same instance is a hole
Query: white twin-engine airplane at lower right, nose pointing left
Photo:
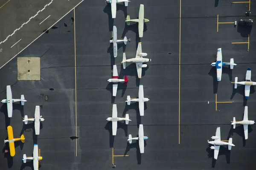
{"type": "Polygon", "coordinates": [[[220,150],[221,145],[228,145],[228,150],[231,150],[231,147],[235,146],[232,143],[232,138],[230,138],[228,141],[221,140],[221,127],[217,127],[215,136],[212,136],[211,138],[214,139],[214,141],[208,140],[208,143],[214,145],[211,146],[211,150],[214,149],[214,159],[218,158],[218,152],[220,150]]]}

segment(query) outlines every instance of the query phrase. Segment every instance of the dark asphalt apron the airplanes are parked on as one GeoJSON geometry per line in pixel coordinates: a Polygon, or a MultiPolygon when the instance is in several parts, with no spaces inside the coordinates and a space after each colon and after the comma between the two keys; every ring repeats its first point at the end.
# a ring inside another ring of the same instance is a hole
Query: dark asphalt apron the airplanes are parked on
{"type": "MultiPolygon", "coordinates": [[[[256,81],[256,52],[253,49],[256,36],[253,29],[248,32],[233,24],[219,24],[217,32],[217,14],[219,22],[243,19],[246,18],[246,5],[183,0],[180,27],[179,1],[162,0],[157,4],[155,1],[133,1],[127,9],[118,5],[115,20],[111,19],[110,6],[105,6],[104,2],[81,3],[75,8],[75,16],[71,11],[55,25],[58,28],[50,29],[19,54],[20,57],[41,57],[41,81],[17,82],[16,58],[0,69],[3,77],[0,97],[4,99],[6,85],[12,85],[13,98],[24,94],[28,100],[24,107],[14,106],[10,120],[6,118],[6,105],[1,105],[0,137],[6,138],[9,124],[15,136],[23,133],[26,137],[22,148],[15,144],[13,159],[8,154],[0,159],[3,169],[29,169],[25,165],[32,164],[22,164],[20,159],[23,153],[32,155],[33,143],[38,143],[44,157],[41,170],[111,169],[112,148],[118,156],[113,157],[118,169],[210,170],[214,167],[235,170],[255,167],[253,127],[249,127],[249,139],[245,141],[243,127],[233,130],[230,121],[233,116],[242,120],[245,105],[249,108],[249,119],[256,117],[254,88],[251,87],[250,98],[246,101],[244,87],[234,90],[231,84],[235,77],[242,81],[248,67],[252,68],[252,81],[256,81]],[[140,3],[144,3],[145,18],[150,20],[141,39],[137,24],[125,26],[124,22],[127,14],[131,18],[138,17],[140,3]],[[72,18],[76,24],[76,40],[72,18]],[[113,25],[117,27],[118,39],[131,38],[126,46],[119,44],[116,58],[109,44],[113,25]],[[245,35],[248,33],[249,52],[248,44],[231,43],[247,42],[245,35]],[[142,79],[137,78],[134,64],[128,63],[123,69],[120,63],[123,51],[127,58],[135,56],[138,42],[142,42],[143,52],[152,59],[148,67],[143,68],[142,79]],[[218,48],[222,48],[224,62],[234,58],[237,64],[232,71],[223,68],[221,82],[216,81],[216,68],[210,65],[216,59],[218,48]],[[117,65],[119,78],[124,75],[129,78],[127,86],[119,84],[115,98],[112,97],[112,84],[107,82],[112,76],[113,64],[117,65]],[[127,95],[138,97],[139,85],[144,86],[144,96],[150,99],[145,103],[143,117],[140,117],[138,103],[130,106],[125,103],[127,95]],[[216,94],[217,102],[233,103],[217,103],[216,109],[216,94]],[[132,120],[128,126],[119,122],[115,137],[111,134],[111,122],[106,120],[112,115],[113,104],[117,105],[119,117],[128,113],[132,120]],[[41,106],[45,119],[38,138],[34,135],[33,124],[24,126],[21,119],[24,114],[33,116],[35,105],[41,106]],[[129,134],[138,135],[139,124],[144,125],[144,135],[149,137],[143,154],[137,142],[127,143],[129,134]],[[221,147],[215,161],[207,140],[215,135],[218,126],[221,127],[221,139],[232,137],[236,146],[231,152],[221,147]],[[23,132],[29,127],[31,131],[23,132]],[[79,137],[77,141],[74,136],[79,137]]],[[[251,4],[250,8],[253,11],[255,6],[251,4]]]]}

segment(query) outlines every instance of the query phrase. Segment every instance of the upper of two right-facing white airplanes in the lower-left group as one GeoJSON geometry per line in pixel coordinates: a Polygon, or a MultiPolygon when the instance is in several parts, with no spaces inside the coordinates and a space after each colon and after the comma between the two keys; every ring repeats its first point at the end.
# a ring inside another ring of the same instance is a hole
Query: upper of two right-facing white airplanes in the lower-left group
{"type": "Polygon", "coordinates": [[[27,115],[24,116],[23,122],[25,124],[28,124],[28,121],[34,121],[35,122],[35,134],[40,134],[40,122],[44,122],[44,118],[40,116],[40,106],[35,106],[35,118],[28,118],[27,115]]]}

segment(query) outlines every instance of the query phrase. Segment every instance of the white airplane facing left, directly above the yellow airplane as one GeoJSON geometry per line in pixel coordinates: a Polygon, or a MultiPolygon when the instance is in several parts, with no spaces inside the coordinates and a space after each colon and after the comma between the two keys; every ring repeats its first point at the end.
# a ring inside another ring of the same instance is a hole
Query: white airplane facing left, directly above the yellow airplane
{"type": "Polygon", "coordinates": [[[13,102],[21,102],[21,105],[24,105],[26,100],[25,100],[23,94],[20,96],[20,99],[12,99],[11,86],[7,85],[6,86],[6,99],[3,99],[1,102],[2,103],[7,103],[8,117],[12,117],[12,103],[13,102]]]}

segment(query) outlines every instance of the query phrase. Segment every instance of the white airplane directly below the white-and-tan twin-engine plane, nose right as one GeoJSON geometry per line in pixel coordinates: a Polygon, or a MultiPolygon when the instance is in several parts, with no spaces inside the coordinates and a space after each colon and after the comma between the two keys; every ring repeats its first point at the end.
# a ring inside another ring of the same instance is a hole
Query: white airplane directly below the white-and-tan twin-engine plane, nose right
{"type": "Polygon", "coordinates": [[[139,110],[140,110],[140,116],[144,116],[144,102],[148,102],[148,98],[144,98],[144,92],[143,92],[143,85],[140,85],[139,87],[139,98],[133,98],[131,99],[130,96],[127,96],[127,102],[128,105],[131,104],[131,102],[139,102],[139,110]]]}

